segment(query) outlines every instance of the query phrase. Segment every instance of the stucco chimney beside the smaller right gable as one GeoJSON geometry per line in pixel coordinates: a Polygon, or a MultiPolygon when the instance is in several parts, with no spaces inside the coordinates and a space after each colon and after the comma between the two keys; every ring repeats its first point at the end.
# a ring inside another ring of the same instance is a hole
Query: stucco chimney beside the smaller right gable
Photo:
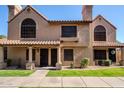
{"type": "Polygon", "coordinates": [[[84,5],[82,9],[83,21],[92,21],[92,5],[84,5]]]}

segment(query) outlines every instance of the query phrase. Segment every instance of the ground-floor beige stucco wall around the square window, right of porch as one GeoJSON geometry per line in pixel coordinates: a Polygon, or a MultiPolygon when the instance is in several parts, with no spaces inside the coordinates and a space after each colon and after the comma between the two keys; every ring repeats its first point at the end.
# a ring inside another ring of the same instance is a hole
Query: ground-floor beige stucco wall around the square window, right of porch
{"type": "MultiPolygon", "coordinates": [[[[90,49],[87,47],[63,47],[61,52],[61,61],[63,66],[70,66],[70,64],[73,62],[75,67],[80,67],[80,62],[82,58],[91,58],[90,49]],[[73,49],[73,61],[64,61],[64,49],[73,49]]],[[[92,65],[92,62],[90,60],[89,65],[92,65]]]]}

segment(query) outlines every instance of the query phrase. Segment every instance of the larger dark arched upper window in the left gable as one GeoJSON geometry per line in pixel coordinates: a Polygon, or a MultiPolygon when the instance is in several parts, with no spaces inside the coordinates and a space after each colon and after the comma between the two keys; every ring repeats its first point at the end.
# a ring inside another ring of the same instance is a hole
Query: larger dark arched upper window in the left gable
{"type": "Polygon", "coordinates": [[[36,23],[27,18],[21,24],[21,38],[36,38],[36,23]]]}

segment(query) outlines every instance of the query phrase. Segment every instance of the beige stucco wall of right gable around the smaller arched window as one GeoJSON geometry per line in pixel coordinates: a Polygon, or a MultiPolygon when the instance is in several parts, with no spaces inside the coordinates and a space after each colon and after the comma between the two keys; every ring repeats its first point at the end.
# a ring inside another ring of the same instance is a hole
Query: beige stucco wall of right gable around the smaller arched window
{"type": "Polygon", "coordinates": [[[112,27],[108,22],[106,22],[101,16],[98,16],[92,22],[92,38],[94,40],[94,28],[98,25],[102,25],[106,29],[106,41],[107,42],[115,42],[116,41],[116,29],[112,27]]]}

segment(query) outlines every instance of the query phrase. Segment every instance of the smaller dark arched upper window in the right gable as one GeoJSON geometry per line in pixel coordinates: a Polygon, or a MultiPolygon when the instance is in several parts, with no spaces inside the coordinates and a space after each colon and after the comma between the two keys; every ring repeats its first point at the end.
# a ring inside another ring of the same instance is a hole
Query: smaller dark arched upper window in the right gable
{"type": "Polygon", "coordinates": [[[106,29],[99,25],[94,29],[94,41],[106,41],[106,29]]]}

